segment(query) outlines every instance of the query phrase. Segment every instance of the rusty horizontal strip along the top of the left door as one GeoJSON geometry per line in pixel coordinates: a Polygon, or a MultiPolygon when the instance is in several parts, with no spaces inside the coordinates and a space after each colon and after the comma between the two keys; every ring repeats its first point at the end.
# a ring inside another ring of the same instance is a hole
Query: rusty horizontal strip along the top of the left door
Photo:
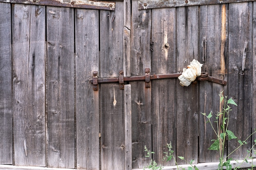
{"type": "Polygon", "coordinates": [[[115,11],[115,2],[99,0],[0,0],[0,2],[115,11]]]}

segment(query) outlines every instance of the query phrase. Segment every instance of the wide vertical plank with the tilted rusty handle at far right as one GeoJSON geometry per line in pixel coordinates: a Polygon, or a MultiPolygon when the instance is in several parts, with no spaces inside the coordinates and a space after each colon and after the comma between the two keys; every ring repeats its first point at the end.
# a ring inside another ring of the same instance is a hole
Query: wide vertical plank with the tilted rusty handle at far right
{"type": "MultiPolygon", "coordinates": [[[[229,4],[229,98],[232,97],[238,107],[232,105],[229,130],[245,140],[251,133],[252,123],[252,2],[229,4]],[[244,44],[247,44],[245,71],[242,73],[244,44]]],[[[244,159],[250,141],[230,157],[244,159]]],[[[228,153],[239,146],[236,140],[228,142],[228,153]]]]}

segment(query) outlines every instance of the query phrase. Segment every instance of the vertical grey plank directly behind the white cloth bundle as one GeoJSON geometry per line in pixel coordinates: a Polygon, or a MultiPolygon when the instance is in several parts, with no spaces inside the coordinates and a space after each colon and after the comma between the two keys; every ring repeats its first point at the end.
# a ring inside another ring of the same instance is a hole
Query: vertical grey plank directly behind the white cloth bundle
{"type": "MultiPolygon", "coordinates": [[[[198,6],[177,8],[177,71],[198,59],[198,6]]],[[[179,81],[177,81],[179,83],[179,81]]],[[[198,162],[198,84],[177,83],[177,156],[198,162]]],[[[177,159],[179,164],[185,162],[177,159]]]]}

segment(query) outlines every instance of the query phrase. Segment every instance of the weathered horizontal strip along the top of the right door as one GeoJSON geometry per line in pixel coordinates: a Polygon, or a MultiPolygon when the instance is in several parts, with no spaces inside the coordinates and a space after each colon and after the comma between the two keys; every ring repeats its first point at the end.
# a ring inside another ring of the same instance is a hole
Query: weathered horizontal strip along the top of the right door
{"type": "Polygon", "coordinates": [[[255,0],[138,0],[138,6],[139,9],[153,9],[250,1],[255,0]]]}

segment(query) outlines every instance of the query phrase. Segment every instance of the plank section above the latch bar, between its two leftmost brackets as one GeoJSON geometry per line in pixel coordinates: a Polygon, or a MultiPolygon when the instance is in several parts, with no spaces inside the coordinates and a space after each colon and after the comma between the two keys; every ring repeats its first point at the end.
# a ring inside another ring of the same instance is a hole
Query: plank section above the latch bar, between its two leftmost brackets
{"type": "Polygon", "coordinates": [[[123,69],[124,4],[115,11],[100,11],[101,73],[100,77],[118,77],[123,69]]]}

